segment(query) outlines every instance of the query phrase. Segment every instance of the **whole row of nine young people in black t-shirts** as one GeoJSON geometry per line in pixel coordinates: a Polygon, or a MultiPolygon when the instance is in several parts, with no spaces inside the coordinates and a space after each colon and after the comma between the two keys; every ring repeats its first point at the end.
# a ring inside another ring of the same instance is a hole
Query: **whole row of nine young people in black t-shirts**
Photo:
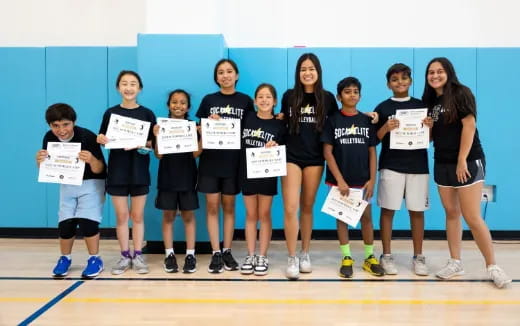
{"type": "MultiPolygon", "coordinates": [[[[141,249],[144,206],[150,185],[150,155],[143,148],[112,149],[105,168],[103,154],[96,142],[102,145],[109,142],[105,134],[112,113],[148,121],[154,126],[150,128],[146,147],[154,148],[160,159],[155,206],[163,210],[166,272],[177,272],[179,269],[172,238],[172,224],[177,210],[181,211],[186,233],[187,250],[183,271],[196,271],[194,210],[199,208],[197,192],[201,192],[205,194],[207,229],[212,247],[208,272],[221,273],[225,269],[240,270],[243,274],[268,273],[271,206],[273,196],[277,194],[277,178],[248,179],[245,149],[282,144],[287,151],[287,175],[281,178],[288,250],[286,276],[288,279],[297,279],[300,273],[312,272],[309,251],[313,207],[324,163],[327,162],[327,185],[338,187],[342,195],[348,195],[350,189],[363,189],[364,198],[370,203],[376,183],[375,147],[381,141],[377,202],[381,207],[383,254],[380,263],[374,254],[369,204],[361,218],[365,251],[363,269],[375,276],[398,273],[391,254],[392,220],[394,212],[405,198],[412,229],[413,270],[417,275],[428,275],[422,252],[424,211],[429,206],[427,152],[425,149],[396,150],[389,146],[390,132],[399,127],[396,111],[427,107],[429,114],[423,123],[431,130],[435,148],[434,179],[446,211],[451,255],[448,264],[436,276],[448,279],[464,273],[460,261],[460,216],[463,215],[485,257],[490,278],[499,288],[511,282],[495,264],[490,232],[480,216],[485,160],[475,127],[475,100],[471,91],[460,84],[452,64],[446,58],[435,58],[428,64],[422,101],[408,94],[412,83],[410,68],[404,64],[391,66],[386,78],[393,96],[379,104],[375,112],[365,114],[357,109],[361,98],[359,80],[354,77],[342,79],[337,85],[335,97],[323,89],[321,65],[318,57],[312,53],[303,54],[298,59],[294,87],[283,94],[281,113],[277,115],[273,112],[277,94],[272,85],[258,86],[253,101],[236,90],[238,78],[239,70],[232,60],[222,59],[217,62],[214,80],[220,90],[203,98],[196,116],[240,119],[240,150],[202,150],[199,137],[199,150],[196,152],[159,155],[154,140],[159,127],[154,113],[137,103],[137,95],[143,83],[133,71],[122,71],[119,74],[116,87],[122,102],[105,112],[97,137],[75,126],[76,116],[70,106],[55,104],[48,108],[46,120],[51,130],[44,137],[42,148],[46,148],[48,141],[81,142],[84,150],[80,153],[80,159],[87,163],[82,186],[62,185],[60,189],[59,234],[62,256],[53,271],[54,275],[67,275],[78,225],[90,254],[82,275],[95,277],[103,270],[103,262],[98,256],[98,225],[105,190],[111,195],[115,208],[117,238],[121,248],[120,259],[112,267],[112,273],[121,274],[130,267],[137,273],[149,271],[141,249]],[[341,103],[341,108],[338,108],[336,100],[341,103]],[[197,157],[198,169],[195,161],[197,157]],[[240,192],[246,208],[247,256],[239,265],[232,255],[231,245],[235,196],[240,192]],[[224,217],[223,248],[220,247],[219,239],[220,206],[224,217]],[[129,244],[129,219],[132,221],[133,252],[129,244]],[[298,233],[301,236],[299,254],[298,233]]],[[[186,91],[172,91],[166,104],[170,118],[187,119],[191,103],[186,91]]],[[[37,162],[43,162],[45,157],[46,150],[38,151],[37,162]]],[[[337,232],[342,254],[339,274],[351,278],[354,261],[347,225],[338,220],[337,232]]]]}

